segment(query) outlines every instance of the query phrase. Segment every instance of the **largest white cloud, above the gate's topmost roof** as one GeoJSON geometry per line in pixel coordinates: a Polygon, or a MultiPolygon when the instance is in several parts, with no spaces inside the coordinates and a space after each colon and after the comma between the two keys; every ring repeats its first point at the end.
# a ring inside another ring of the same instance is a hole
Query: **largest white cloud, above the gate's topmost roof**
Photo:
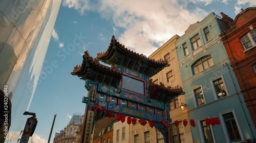
{"type": "MultiPolygon", "coordinates": [[[[186,0],[184,3],[187,4],[187,1],[190,0],[186,0]]],[[[193,0],[193,2],[196,1],[208,5],[213,0],[193,0]]],[[[98,12],[103,18],[111,19],[114,22],[114,32],[118,28],[124,30],[116,39],[131,50],[146,55],[150,55],[175,34],[183,35],[191,23],[201,21],[210,13],[201,9],[200,7],[203,6],[200,4],[189,5],[193,10],[188,11],[185,4],[178,4],[178,0],[164,0],[161,3],[147,0],[108,0],[99,1],[97,9],[95,5],[92,5],[91,8],[91,5],[84,6],[89,4],[87,0],[65,0],[62,4],[76,9],[80,14],[83,14],[84,10],[91,10],[98,12]],[[143,5],[143,9],[141,5],[143,5]]]]}

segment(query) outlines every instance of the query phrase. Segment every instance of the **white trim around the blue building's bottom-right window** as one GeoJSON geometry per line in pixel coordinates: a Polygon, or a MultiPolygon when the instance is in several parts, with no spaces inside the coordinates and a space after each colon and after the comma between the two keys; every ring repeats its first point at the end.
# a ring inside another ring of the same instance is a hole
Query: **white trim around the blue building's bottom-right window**
{"type": "MultiPolygon", "coordinates": [[[[225,113],[229,113],[229,112],[233,113],[234,121],[236,121],[236,124],[238,126],[238,131],[239,131],[239,134],[241,136],[241,140],[244,140],[243,132],[242,132],[242,130],[240,128],[240,125],[238,123],[238,119],[237,119],[236,113],[234,112],[234,109],[230,109],[230,110],[226,110],[226,111],[223,111],[223,112],[219,113],[220,121],[221,121],[221,125],[222,125],[222,129],[223,129],[223,132],[224,132],[224,136],[225,136],[226,142],[230,143],[230,140],[229,140],[229,136],[228,136],[228,133],[227,133],[227,127],[226,127],[226,124],[224,122],[224,118],[223,118],[222,115],[225,114],[225,113]]],[[[237,141],[237,142],[241,142],[241,141],[237,141]]]]}

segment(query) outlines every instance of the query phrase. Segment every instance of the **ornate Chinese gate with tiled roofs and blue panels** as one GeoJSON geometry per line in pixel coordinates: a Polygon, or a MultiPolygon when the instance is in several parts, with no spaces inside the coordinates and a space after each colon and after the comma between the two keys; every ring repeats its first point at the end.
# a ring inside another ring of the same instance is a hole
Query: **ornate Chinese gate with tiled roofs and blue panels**
{"type": "MultiPolygon", "coordinates": [[[[88,90],[87,97],[82,99],[87,105],[80,143],[90,142],[97,120],[103,117],[125,120],[125,116],[132,117],[133,124],[136,119],[142,125],[147,121],[168,142],[168,128],[172,122],[169,103],[181,95],[183,90],[181,87],[164,87],[161,82],[160,85],[154,84],[150,79],[167,66],[167,61],[155,61],[125,48],[114,36],[109,48],[98,53],[97,58],[93,59],[85,51],[82,65],[74,67],[71,73],[85,80],[85,88],[88,90]]],[[[131,123],[131,118],[127,122],[131,123]]]]}

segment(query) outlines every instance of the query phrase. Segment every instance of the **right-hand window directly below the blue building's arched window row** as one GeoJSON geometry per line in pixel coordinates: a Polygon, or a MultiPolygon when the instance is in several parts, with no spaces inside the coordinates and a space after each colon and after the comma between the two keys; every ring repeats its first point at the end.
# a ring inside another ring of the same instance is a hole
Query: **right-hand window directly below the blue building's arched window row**
{"type": "Polygon", "coordinates": [[[216,94],[217,94],[218,98],[222,98],[224,96],[227,96],[226,88],[224,86],[222,78],[218,78],[218,79],[216,79],[212,82],[214,83],[214,88],[215,88],[215,91],[216,91],[216,94]]]}

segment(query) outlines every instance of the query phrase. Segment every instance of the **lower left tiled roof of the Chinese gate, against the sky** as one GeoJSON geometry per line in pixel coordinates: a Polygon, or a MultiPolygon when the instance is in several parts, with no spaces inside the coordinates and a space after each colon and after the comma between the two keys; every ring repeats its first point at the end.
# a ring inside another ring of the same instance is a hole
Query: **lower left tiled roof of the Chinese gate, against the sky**
{"type": "Polygon", "coordinates": [[[93,59],[88,51],[84,52],[82,65],[74,67],[72,75],[77,75],[83,80],[92,80],[103,84],[108,84],[117,88],[122,79],[122,72],[114,67],[110,68],[101,65],[97,59],[93,59]]]}

